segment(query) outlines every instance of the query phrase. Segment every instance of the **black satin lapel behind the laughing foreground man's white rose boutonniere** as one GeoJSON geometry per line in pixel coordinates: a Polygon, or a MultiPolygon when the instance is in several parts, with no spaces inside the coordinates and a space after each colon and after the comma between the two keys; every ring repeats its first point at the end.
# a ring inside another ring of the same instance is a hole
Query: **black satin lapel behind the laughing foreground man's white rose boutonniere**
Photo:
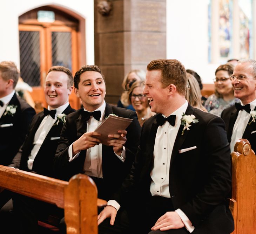
{"type": "MultiPolygon", "coordinates": [[[[191,107],[190,105],[188,105],[188,108],[185,112],[185,115],[193,115],[194,114],[195,109],[193,107],[191,107]]],[[[173,146],[173,152],[171,153],[171,162],[170,162],[170,166],[173,163],[174,158],[177,156],[178,154],[178,150],[180,149],[180,147],[182,146],[184,140],[186,139],[187,135],[190,133],[193,133],[193,128],[194,128],[194,124],[191,124],[191,127],[189,127],[189,130],[185,130],[183,135],[181,135],[182,130],[183,130],[184,126],[180,125],[180,128],[178,130],[175,142],[174,142],[174,146],[173,146]]]]}

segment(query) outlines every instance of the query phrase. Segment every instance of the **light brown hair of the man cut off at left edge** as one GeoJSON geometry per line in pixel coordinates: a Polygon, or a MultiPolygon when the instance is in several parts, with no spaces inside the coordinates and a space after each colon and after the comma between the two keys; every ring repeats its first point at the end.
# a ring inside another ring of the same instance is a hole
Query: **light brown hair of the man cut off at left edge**
{"type": "Polygon", "coordinates": [[[0,62],[0,72],[3,80],[13,80],[13,89],[15,89],[15,86],[20,78],[20,71],[16,67],[15,63],[12,61],[0,62]]]}

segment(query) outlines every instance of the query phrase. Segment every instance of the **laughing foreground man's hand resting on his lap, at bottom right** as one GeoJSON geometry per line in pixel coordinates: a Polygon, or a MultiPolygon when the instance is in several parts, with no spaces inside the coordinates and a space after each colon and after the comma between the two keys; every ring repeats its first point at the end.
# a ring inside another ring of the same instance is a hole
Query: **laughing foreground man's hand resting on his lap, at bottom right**
{"type": "Polygon", "coordinates": [[[184,227],[184,223],[182,222],[180,216],[174,212],[166,212],[163,216],[161,216],[155,223],[155,225],[151,228],[151,230],[166,231],[169,229],[179,229],[184,227]]]}

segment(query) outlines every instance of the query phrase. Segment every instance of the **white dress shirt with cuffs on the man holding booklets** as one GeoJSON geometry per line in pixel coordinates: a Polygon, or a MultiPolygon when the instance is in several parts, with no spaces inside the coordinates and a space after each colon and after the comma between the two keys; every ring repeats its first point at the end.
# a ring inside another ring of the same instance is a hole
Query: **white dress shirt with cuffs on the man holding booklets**
{"type": "MultiPolygon", "coordinates": [[[[85,111],[87,111],[84,108],[85,111]]],[[[89,120],[87,121],[87,127],[86,127],[86,132],[94,132],[94,130],[102,123],[105,117],[105,110],[106,110],[106,102],[104,102],[98,109],[95,111],[99,110],[101,112],[101,117],[100,120],[97,121],[93,116],[90,116],[89,120]]],[[[90,111],[89,111],[90,112],[90,111]]],[[[72,154],[72,145],[69,146],[68,148],[68,156],[69,156],[69,161],[74,160],[80,152],[78,152],[74,157],[72,154]]],[[[124,162],[126,158],[125,154],[125,147],[123,146],[123,151],[121,153],[121,156],[117,155],[116,156],[124,162]]],[[[83,165],[83,170],[86,175],[97,177],[97,178],[103,178],[102,174],[102,144],[95,145],[94,147],[90,147],[89,149],[86,150],[86,158],[85,158],[85,163],[83,165]]]]}

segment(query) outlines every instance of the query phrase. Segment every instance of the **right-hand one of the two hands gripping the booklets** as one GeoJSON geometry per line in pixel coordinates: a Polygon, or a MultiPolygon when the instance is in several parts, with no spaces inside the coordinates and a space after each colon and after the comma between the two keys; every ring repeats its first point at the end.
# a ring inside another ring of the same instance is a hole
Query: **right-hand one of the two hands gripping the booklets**
{"type": "Polygon", "coordinates": [[[126,143],[126,130],[118,130],[119,134],[110,134],[108,135],[109,138],[114,138],[111,140],[108,140],[108,144],[113,146],[114,152],[121,156],[121,153],[123,151],[123,146],[126,143]]]}

